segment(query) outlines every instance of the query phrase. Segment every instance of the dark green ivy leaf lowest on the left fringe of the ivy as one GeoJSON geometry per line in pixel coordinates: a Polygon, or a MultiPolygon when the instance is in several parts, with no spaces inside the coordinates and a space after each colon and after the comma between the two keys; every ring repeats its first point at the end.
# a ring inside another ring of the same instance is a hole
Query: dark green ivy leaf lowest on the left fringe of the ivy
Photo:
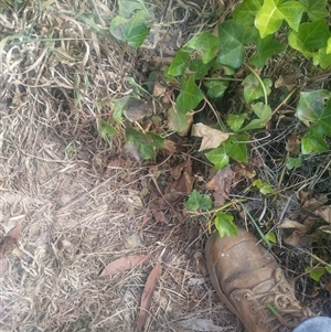
{"type": "Polygon", "coordinates": [[[126,144],[132,143],[139,151],[142,159],[151,159],[156,156],[153,139],[141,131],[131,127],[126,130],[126,144]]]}

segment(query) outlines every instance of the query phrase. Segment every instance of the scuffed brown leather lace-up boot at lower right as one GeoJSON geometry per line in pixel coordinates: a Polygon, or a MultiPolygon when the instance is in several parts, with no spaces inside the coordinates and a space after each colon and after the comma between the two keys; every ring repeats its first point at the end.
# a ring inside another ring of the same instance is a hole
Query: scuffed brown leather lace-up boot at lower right
{"type": "Polygon", "coordinates": [[[274,256],[245,229],[223,238],[213,234],[206,244],[206,265],[218,297],[248,332],[285,331],[311,317],[274,256]]]}

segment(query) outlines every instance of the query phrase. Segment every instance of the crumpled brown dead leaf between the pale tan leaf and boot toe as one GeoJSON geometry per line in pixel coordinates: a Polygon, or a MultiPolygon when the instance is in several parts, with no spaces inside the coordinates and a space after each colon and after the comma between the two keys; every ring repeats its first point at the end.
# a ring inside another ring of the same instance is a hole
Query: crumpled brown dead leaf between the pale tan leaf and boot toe
{"type": "Polygon", "coordinates": [[[225,203],[229,194],[229,189],[234,181],[234,172],[231,167],[220,170],[216,175],[207,182],[206,188],[209,190],[215,191],[214,199],[215,205],[221,206],[225,203]]]}

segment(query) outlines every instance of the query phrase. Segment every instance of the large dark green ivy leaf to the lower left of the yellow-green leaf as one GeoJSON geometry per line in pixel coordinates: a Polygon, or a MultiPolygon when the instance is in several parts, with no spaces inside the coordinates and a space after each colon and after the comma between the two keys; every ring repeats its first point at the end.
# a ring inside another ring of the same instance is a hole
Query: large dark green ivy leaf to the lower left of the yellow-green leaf
{"type": "Polygon", "coordinates": [[[227,20],[218,25],[220,47],[217,62],[233,68],[238,68],[244,62],[244,45],[253,43],[258,32],[255,28],[227,20]]]}

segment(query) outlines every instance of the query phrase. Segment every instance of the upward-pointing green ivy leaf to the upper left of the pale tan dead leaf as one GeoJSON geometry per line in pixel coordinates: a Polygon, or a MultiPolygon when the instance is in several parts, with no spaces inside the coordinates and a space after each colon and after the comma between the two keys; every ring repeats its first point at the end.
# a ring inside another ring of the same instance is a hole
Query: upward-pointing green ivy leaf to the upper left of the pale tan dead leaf
{"type": "Polygon", "coordinates": [[[193,110],[204,98],[202,92],[191,75],[186,82],[182,82],[182,90],[177,97],[177,107],[182,113],[193,110]]]}

